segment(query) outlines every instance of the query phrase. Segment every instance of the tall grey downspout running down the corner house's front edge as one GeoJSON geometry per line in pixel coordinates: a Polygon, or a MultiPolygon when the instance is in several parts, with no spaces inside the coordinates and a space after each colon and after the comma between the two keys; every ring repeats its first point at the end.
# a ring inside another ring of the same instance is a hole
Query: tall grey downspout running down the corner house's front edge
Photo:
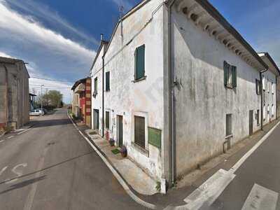
{"type": "Polygon", "coordinates": [[[174,146],[174,141],[175,141],[175,131],[174,131],[174,80],[173,80],[173,72],[172,72],[172,34],[171,34],[171,13],[172,13],[172,6],[176,0],[172,0],[168,4],[168,43],[167,43],[167,48],[168,48],[168,77],[169,77],[169,122],[171,122],[169,125],[169,139],[171,139],[171,181],[172,181],[172,186],[174,186],[175,182],[175,146],[174,146]]]}

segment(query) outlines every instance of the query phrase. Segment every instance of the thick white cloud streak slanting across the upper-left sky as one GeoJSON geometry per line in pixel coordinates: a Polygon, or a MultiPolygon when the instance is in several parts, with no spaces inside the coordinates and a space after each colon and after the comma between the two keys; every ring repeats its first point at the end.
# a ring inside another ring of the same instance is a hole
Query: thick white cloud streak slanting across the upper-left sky
{"type": "Polygon", "coordinates": [[[13,34],[14,38],[32,43],[36,47],[41,45],[57,56],[67,56],[83,64],[90,63],[94,56],[92,50],[8,9],[3,1],[0,1],[0,29],[13,34]]]}

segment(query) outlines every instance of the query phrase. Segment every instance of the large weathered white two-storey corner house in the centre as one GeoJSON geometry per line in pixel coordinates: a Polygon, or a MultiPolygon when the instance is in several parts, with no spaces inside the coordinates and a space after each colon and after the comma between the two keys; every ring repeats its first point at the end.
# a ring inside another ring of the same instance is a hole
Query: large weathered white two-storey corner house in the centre
{"type": "Polygon", "coordinates": [[[209,1],[141,1],[94,57],[92,127],[173,183],[260,130],[267,68],[209,1]]]}

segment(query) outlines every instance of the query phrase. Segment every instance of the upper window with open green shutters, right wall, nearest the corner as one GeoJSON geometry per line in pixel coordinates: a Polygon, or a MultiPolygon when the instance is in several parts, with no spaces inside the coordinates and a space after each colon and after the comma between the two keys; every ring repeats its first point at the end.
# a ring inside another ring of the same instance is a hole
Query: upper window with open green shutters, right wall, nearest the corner
{"type": "Polygon", "coordinates": [[[230,88],[237,87],[237,67],[231,66],[227,62],[224,62],[223,71],[224,71],[225,87],[230,87],[230,88]]]}

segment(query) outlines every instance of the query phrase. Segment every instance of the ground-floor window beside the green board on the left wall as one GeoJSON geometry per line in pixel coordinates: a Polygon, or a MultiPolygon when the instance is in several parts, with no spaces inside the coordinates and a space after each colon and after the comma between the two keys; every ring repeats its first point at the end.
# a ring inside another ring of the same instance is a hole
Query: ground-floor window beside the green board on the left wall
{"type": "Polygon", "coordinates": [[[134,143],[145,148],[145,118],[134,116],[134,143]]]}

